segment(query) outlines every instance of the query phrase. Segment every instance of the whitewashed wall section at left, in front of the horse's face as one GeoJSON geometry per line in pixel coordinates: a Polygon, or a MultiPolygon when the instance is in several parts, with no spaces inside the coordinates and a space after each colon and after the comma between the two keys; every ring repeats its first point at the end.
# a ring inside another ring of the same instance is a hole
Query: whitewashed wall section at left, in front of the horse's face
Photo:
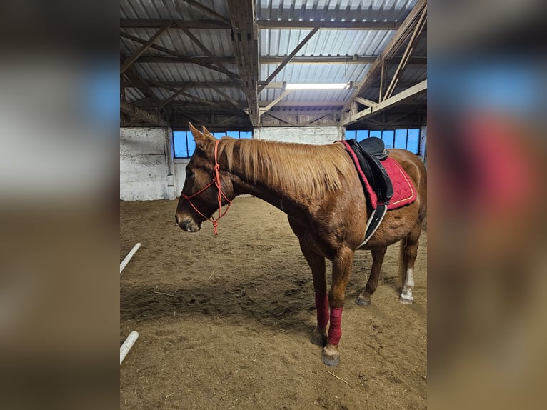
{"type": "Polygon", "coordinates": [[[174,199],[171,129],[120,129],[120,199],[174,199]]]}

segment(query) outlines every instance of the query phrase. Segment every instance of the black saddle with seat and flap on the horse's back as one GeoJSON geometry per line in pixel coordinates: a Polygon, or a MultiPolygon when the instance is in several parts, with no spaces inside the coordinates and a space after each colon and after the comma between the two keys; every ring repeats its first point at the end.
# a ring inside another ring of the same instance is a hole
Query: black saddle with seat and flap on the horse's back
{"type": "MultiPolygon", "coordinates": [[[[359,143],[355,139],[348,139],[346,142],[355,152],[363,174],[368,179],[368,184],[378,196],[378,203],[388,202],[393,196],[393,185],[386,169],[381,164],[381,161],[388,157],[388,150],[383,141],[371,136],[359,143]]],[[[361,182],[364,189],[364,181],[361,182]]]]}

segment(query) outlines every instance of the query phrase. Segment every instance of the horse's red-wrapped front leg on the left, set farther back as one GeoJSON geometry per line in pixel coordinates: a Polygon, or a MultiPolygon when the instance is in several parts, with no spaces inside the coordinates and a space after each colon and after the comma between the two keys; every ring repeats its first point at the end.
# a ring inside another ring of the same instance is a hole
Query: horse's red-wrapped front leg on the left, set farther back
{"type": "Polygon", "coordinates": [[[306,239],[299,238],[300,249],[308,261],[313,275],[313,289],[316,294],[317,326],[310,336],[310,341],[318,346],[327,342],[326,325],[328,324],[328,295],[326,291],[325,257],[313,251],[306,239]]]}

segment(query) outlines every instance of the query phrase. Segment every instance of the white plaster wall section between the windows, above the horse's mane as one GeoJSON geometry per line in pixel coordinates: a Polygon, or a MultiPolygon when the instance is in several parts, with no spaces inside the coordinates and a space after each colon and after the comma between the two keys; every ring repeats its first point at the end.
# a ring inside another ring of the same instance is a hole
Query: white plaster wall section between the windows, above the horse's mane
{"type": "Polygon", "coordinates": [[[301,144],[331,144],[343,139],[343,128],[338,126],[264,127],[254,129],[254,138],[301,144]]]}

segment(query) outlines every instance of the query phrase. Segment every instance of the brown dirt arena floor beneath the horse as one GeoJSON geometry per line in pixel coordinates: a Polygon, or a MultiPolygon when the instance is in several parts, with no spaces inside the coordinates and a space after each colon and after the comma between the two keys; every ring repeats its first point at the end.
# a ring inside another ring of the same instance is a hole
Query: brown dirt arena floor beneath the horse
{"type": "MultiPolygon", "coordinates": [[[[356,252],[346,291],[341,363],[321,362],[311,271],[286,215],[234,201],[215,237],[188,234],[176,201],[120,202],[121,409],[425,409],[427,232],[414,304],[398,302],[398,244],[389,247],[371,306],[357,306],[371,267],[356,252]]],[[[330,283],[331,264],[327,261],[330,283]]]]}

